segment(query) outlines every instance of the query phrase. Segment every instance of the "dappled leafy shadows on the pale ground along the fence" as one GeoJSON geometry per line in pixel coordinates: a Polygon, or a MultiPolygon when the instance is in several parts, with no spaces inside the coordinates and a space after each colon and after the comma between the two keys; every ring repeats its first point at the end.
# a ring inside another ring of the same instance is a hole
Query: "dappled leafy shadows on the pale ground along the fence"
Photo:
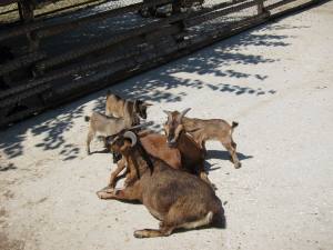
{"type": "MultiPolygon", "coordinates": [[[[270,29],[274,29],[275,24],[271,24],[270,29]]],[[[279,24],[276,26],[279,27],[279,24]]],[[[297,29],[297,27],[283,27],[285,29],[297,29]]],[[[182,101],[186,92],[173,93],[173,89],[179,87],[188,87],[194,89],[205,88],[209,91],[220,91],[223,94],[249,94],[258,97],[262,94],[274,94],[274,89],[256,89],[251,86],[236,86],[225,82],[228,79],[248,79],[255,78],[260,81],[266,81],[266,74],[250,74],[230,70],[231,64],[249,64],[258,66],[262,63],[273,63],[275,60],[265,58],[259,54],[243,53],[243,49],[249,46],[258,47],[286,47],[284,40],[287,36],[271,36],[258,34],[254,31],[265,30],[268,27],[259,27],[252,31],[246,31],[225,41],[219,42],[210,48],[205,48],[195,53],[192,53],[183,59],[179,59],[164,67],[153,71],[134,77],[130,80],[112,87],[113,92],[120,93],[122,97],[130,99],[142,99],[159,103],[179,102],[182,101]],[[199,76],[212,74],[224,77],[223,82],[206,83],[200,79],[191,80],[191,78],[180,78],[179,73],[199,76]]],[[[279,27],[281,29],[281,27],[279,27]]],[[[70,131],[79,119],[84,117],[84,108],[87,103],[93,101],[93,109],[98,111],[104,110],[105,90],[83,97],[70,104],[57,108],[38,117],[28,119],[24,122],[18,123],[12,128],[0,133],[0,149],[9,159],[13,159],[23,153],[23,142],[27,139],[27,133],[33,137],[39,137],[39,141],[33,146],[41,150],[60,150],[61,160],[75,159],[83,149],[78,147],[77,141],[65,139],[65,133],[70,131]]],[[[78,134],[82,136],[82,134],[78,134]]],[[[73,137],[77,140],[78,137],[73,137]]],[[[85,137],[85,134],[84,134],[85,137]]],[[[28,150],[28,149],[27,149],[28,150]]],[[[221,157],[224,154],[219,151],[211,152],[211,157],[221,157]]],[[[241,158],[248,159],[249,156],[241,158]]]]}

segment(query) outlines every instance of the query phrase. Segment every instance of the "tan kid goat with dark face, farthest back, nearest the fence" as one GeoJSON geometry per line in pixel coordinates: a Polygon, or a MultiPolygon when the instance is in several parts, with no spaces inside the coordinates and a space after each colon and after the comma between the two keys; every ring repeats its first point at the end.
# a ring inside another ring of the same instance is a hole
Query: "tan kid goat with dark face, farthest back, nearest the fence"
{"type": "MultiPolygon", "coordinates": [[[[107,103],[105,103],[107,116],[112,116],[118,118],[124,117],[127,106],[129,107],[129,109],[132,110],[134,114],[141,117],[142,119],[147,119],[147,108],[152,104],[141,100],[129,101],[108,91],[107,103]]],[[[139,119],[139,117],[137,119],[139,119]]]]}

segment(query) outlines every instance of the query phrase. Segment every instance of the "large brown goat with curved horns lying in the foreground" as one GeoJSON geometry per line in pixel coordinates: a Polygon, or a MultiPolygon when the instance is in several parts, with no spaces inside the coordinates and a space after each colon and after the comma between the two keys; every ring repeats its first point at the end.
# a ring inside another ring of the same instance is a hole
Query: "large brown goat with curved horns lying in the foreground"
{"type": "Polygon", "coordinates": [[[170,236],[178,228],[193,229],[211,223],[224,227],[221,201],[208,183],[149,157],[132,131],[117,136],[111,148],[125,158],[139,179],[122,190],[101,190],[99,198],[139,200],[161,221],[160,229],[137,230],[134,237],[170,236]]]}

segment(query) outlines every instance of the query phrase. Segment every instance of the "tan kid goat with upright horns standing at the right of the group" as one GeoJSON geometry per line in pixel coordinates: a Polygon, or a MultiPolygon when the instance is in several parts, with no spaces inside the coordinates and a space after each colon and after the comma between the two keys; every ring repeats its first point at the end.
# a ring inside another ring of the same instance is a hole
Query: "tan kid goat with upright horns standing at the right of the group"
{"type": "Polygon", "coordinates": [[[181,113],[178,111],[164,111],[168,114],[168,121],[164,126],[168,136],[169,144],[173,144],[179,140],[182,131],[190,133],[201,149],[206,153],[205,141],[218,140],[229,151],[234,167],[238,169],[241,167],[241,162],[236,156],[236,143],[232,139],[232,132],[236,122],[232,122],[230,126],[222,119],[209,119],[202,120],[196,118],[184,117],[190,109],[185,109],[181,113]]]}

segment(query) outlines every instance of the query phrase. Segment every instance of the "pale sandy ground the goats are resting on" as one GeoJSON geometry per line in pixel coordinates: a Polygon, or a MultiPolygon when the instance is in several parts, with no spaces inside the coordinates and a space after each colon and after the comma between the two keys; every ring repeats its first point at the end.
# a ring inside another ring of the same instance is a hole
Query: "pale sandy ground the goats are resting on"
{"type": "Polygon", "coordinates": [[[208,143],[226,229],[138,240],[158,227],[148,210],[98,199],[114,166],[85,154],[83,117],[103,110],[103,90],[0,133],[0,249],[333,249],[332,30],[333,1],[110,88],[152,102],[158,124],[188,107],[240,122],[241,169],[208,143]]]}

